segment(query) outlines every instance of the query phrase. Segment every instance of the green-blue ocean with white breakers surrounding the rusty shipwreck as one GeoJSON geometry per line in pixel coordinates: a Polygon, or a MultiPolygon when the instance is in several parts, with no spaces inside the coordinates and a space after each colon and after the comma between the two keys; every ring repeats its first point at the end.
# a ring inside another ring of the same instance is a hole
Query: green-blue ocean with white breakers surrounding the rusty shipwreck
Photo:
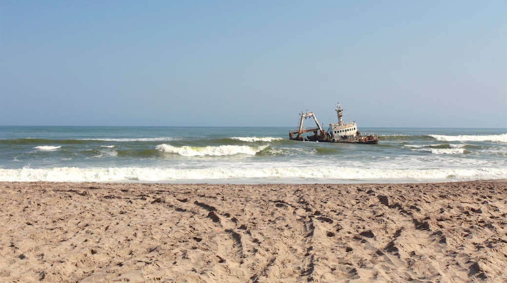
{"type": "Polygon", "coordinates": [[[378,145],[289,127],[0,126],[0,181],[213,184],[507,179],[507,129],[360,128],[378,145]]]}

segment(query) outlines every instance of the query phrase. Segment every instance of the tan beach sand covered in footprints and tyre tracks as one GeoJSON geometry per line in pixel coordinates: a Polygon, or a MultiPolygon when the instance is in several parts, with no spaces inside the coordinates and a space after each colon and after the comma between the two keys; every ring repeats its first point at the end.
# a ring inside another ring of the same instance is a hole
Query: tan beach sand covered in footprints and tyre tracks
{"type": "Polygon", "coordinates": [[[0,194],[0,281],[507,281],[507,180],[0,194]]]}

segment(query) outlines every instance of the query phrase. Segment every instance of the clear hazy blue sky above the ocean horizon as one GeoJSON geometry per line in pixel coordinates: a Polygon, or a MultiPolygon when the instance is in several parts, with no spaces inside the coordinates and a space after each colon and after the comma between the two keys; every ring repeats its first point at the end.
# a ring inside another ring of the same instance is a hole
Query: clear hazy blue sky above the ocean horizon
{"type": "Polygon", "coordinates": [[[0,125],[507,128],[507,2],[0,0],[0,125]]]}

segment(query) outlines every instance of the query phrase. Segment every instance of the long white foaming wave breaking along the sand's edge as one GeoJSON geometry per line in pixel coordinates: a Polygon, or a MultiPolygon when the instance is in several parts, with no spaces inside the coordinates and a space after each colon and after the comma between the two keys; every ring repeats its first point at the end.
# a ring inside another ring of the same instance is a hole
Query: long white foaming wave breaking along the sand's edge
{"type": "Polygon", "coordinates": [[[356,167],[268,167],[268,168],[78,168],[0,169],[0,182],[209,182],[230,183],[343,183],[431,182],[504,179],[507,168],[474,169],[373,169],[356,167]],[[384,181],[383,181],[384,180],[384,181]]]}

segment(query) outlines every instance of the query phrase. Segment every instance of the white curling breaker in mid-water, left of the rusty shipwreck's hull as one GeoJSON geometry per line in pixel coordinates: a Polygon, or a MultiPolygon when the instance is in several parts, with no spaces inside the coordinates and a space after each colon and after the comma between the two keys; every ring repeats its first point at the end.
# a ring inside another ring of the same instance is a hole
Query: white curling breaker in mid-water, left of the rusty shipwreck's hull
{"type": "Polygon", "coordinates": [[[158,145],[157,150],[165,153],[175,153],[181,156],[231,156],[236,154],[256,155],[268,146],[249,147],[249,146],[205,146],[205,147],[174,147],[171,145],[158,145]]]}

